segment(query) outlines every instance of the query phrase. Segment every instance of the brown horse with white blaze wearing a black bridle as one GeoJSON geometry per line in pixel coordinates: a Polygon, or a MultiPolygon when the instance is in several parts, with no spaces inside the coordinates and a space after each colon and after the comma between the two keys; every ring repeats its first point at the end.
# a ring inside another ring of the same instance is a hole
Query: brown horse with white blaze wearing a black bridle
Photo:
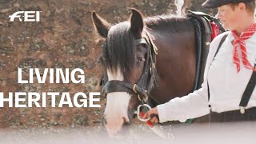
{"type": "Polygon", "coordinates": [[[156,106],[189,94],[196,78],[194,23],[185,16],[143,18],[139,10],[131,12],[128,21],[114,26],[92,12],[94,28],[105,38],[100,62],[109,134],[130,124],[141,102],[156,106]]]}

